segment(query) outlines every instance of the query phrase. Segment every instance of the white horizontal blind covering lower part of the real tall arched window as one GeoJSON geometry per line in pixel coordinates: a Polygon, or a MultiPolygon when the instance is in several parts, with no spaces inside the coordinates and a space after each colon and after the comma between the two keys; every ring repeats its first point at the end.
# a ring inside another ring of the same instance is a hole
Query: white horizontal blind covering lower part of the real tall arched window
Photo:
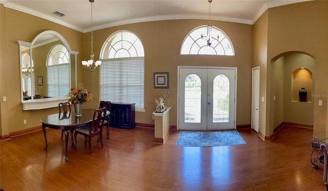
{"type": "Polygon", "coordinates": [[[100,100],[135,103],[144,109],[144,57],[113,59],[101,63],[100,100]]]}

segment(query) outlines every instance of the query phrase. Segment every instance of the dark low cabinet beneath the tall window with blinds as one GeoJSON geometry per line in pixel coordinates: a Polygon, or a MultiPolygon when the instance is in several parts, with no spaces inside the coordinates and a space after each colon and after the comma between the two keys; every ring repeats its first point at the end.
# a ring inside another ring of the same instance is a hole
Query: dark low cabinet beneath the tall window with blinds
{"type": "Polygon", "coordinates": [[[111,119],[109,126],[113,128],[131,130],[135,127],[134,115],[135,103],[111,102],[111,119]]]}

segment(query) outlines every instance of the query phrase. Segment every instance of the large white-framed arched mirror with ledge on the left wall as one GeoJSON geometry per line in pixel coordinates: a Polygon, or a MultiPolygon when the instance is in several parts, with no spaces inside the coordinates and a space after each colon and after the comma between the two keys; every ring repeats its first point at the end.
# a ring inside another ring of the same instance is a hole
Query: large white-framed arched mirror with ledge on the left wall
{"type": "Polygon", "coordinates": [[[17,43],[23,110],[57,107],[58,100],[67,101],[70,88],[76,87],[78,52],[55,31],[40,33],[31,43],[17,43]]]}

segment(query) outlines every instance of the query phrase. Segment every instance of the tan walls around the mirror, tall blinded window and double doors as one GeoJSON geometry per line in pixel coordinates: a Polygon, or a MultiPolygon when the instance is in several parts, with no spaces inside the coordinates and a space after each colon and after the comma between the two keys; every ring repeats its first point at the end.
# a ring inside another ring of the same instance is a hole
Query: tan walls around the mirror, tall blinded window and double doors
{"type": "MultiPolygon", "coordinates": [[[[1,96],[7,96],[7,102],[1,102],[2,135],[17,132],[40,125],[40,118],[56,113],[57,109],[44,109],[23,111],[20,103],[20,79],[19,79],[19,51],[17,40],[32,41],[40,32],[54,30],[60,33],[68,41],[71,49],[80,52],[77,55],[77,63],[89,58],[91,53],[91,36],[89,33],[80,33],[72,29],[54,24],[48,20],[38,18],[23,12],[4,8],[1,19],[1,44],[6,50],[6,71],[1,70],[1,96]],[[13,25],[14,24],[14,25],[13,25]],[[10,70],[8,70],[10,69],[10,70]],[[8,86],[10,79],[10,86],[8,86]],[[27,124],[23,124],[27,119],[27,124]]],[[[136,122],[154,124],[152,112],[155,110],[155,99],[166,93],[171,94],[171,125],[176,125],[176,95],[177,95],[177,66],[220,66],[237,67],[237,122],[236,124],[250,124],[251,121],[251,44],[252,26],[245,24],[213,21],[212,25],[224,31],[232,41],[235,56],[201,56],[180,55],[180,47],[185,36],[194,28],[207,25],[206,20],[163,20],[158,22],[146,22],[112,27],[94,31],[93,47],[95,58],[99,57],[100,48],[104,41],[118,30],[128,30],[136,34],[145,49],[145,112],[136,112],[136,122]],[[153,89],[153,72],[170,72],[170,89],[153,89]]],[[[4,64],[1,65],[4,67],[4,64]]],[[[45,79],[44,79],[45,80],[45,79]]],[[[91,73],[87,69],[77,67],[77,83],[85,83],[85,87],[93,93],[94,102],[88,102],[86,108],[96,108],[99,103],[99,70],[91,73]]]]}

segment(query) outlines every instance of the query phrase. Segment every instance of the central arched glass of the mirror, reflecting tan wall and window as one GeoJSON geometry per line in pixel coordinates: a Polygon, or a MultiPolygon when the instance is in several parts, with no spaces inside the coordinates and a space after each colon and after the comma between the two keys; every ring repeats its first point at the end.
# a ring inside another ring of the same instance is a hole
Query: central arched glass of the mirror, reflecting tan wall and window
{"type": "Polygon", "coordinates": [[[66,47],[56,36],[46,34],[39,36],[32,44],[32,53],[36,82],[33,96],[65,97],[71,81],[69,53],[66,47]]]}

